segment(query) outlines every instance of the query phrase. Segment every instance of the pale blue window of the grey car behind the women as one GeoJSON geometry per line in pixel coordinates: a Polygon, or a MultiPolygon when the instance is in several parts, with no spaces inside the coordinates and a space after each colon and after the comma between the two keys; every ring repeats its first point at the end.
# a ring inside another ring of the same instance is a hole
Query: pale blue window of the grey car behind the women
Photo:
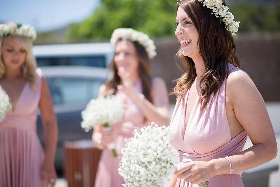
{"type": "Polygon", "coordinates": [[[98,90],[104,80],[48,77],[46,78],[53,103],[56,104],[86,104],[92,98],[97,98],[98,90]]]}

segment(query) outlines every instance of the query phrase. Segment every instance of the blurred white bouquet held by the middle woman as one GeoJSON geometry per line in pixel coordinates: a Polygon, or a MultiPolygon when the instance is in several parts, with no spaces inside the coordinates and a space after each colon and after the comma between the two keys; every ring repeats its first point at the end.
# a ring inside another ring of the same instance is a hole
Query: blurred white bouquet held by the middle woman
{"type": "MultiPolygon", "coordinates": [[[[81,127],[88,132],[95,125],[103,125],[104,131],[111,130],[110,125],[118,122],[124,115],[124,105],[115,97],[115,95],[91,99],[85,110],[81,112],[83,121],[81,127]]],[[[108,145],[116,157],[115,143],[108,145]]]]}

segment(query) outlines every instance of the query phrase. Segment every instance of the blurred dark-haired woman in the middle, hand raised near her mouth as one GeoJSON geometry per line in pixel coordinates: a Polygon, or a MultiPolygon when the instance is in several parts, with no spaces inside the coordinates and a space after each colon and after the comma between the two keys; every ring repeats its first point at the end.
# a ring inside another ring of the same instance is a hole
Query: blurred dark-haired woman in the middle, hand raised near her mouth
{"type": "Polygon", "coordinates": [[[100,87],[99,97],[115,94],[126,109],[124,117],[111,126],[112,131],[97,126],[92,134],[97,148],[103,150],[95,187],[121,187],[125,183],[118,173],[121,148],[125,146],[124,139],[133,136],[135,127],[153,121],[160,125],[169,123],[166,85],[161,78],[150,76],[150,59],[156,55],[153,41],[142,32],[119,28],[113,32],[111,43],[115,44],[110,65],[113,77],[100,87]],[[111,142],[116,144],[117,157],[107,148],[111,142]]]}

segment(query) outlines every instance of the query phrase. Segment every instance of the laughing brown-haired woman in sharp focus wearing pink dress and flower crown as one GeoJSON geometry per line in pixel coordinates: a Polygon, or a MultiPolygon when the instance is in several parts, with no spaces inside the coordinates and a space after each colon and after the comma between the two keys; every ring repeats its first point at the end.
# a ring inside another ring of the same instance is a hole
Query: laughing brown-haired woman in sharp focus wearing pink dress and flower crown
{"type": "Polygon", "coordinates": [[[176,8],[177,79],[170,129],[183,164],[169,187],[242,187],[242,171],[276,157],[276,138],[256,86],[239,69],[232,35],[239,22],[222,0],[183,0],[176,8]],[[252,147],[243,150],[247,135],[252,147]]]}

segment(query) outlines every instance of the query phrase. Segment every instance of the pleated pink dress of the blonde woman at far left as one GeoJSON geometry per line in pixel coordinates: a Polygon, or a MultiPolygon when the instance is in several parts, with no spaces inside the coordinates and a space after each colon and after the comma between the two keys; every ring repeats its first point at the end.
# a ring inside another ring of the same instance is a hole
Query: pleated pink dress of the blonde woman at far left
{"type": "Polygon", "coordinates": [[[40,177],[44,152],[36,133],[41,69],[36,73],[36,91],[26,82],[15,108],[0,122],[0,187],[47,186],[40,177]]]}

